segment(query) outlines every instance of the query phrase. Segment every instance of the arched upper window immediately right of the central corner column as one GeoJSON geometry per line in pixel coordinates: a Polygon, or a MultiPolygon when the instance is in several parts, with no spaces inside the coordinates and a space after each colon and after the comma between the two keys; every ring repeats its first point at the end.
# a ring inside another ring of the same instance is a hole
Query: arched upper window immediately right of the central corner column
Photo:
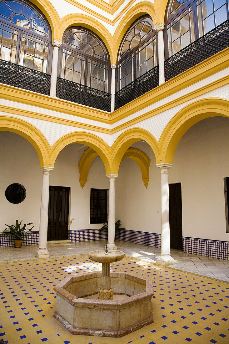
{"type": "Polygon", "coordinates": [[[149,17],[137,20],[126,33],[118,55],[118,90],[157,65],[157,33],[149,17]]]}

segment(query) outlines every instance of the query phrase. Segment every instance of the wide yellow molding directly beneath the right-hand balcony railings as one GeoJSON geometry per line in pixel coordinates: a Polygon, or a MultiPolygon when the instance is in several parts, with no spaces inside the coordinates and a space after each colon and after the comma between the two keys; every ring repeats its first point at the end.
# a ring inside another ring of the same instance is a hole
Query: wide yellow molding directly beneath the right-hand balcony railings
{"type": "MultiPolygon", "coordinates": [[[[229,47],[207,58],[207,60],[200,62],[199,64],[193,66],[192,68],[189,68],[187,71],[175,76],[174,78],[168,80],[164,84],[159,85],[156,88],[152,89],[151,91],[132,100],[130,103],[122,106],[121,108],[113,111],[111,113],[111,123],[112,124],[116,123],[117,121],[123,118],[126,118],[127,116],[133,114],[134,112],[140,111],[150,106],[151,104],[156,103],[157,101],[165,99],[166,97],[171,96],[172,94],[176,92],[179,92],[181,89],[184,89],[190,85],[193,85],[197,83],[198,81],[203,80],[221,71],[222,69],[227,68],[228,65],[229,65],[229,47]]],[[[215,82],[212,82],[211,85],[215,85],[215,83],[217,82],[218,80],[216,80],[215,82]]],[[[197,97],[198,93],[202,94],[201,87],[198,89],[198,92],[196,92],[196,90],[192,92],[192,97],[194,96],[194,94],[195,94],[195,97],[197,97]]],[[[184,98],[187,100],[192,99],[189,96],[189,94],[183,97],[176,98],[176,99],[178,99],[180,103],[182,99],[184,98]]]]}

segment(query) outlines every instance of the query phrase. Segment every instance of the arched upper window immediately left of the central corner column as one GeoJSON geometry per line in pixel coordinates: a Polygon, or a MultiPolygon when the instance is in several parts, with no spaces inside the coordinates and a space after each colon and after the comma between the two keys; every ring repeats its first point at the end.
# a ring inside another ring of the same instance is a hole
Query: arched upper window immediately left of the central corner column
{"type": "Polygon", "coordinates": [[[68,29],[62,44],[61,78],[110,92],[109,55],[105,45],[92,32],[68,29]]]}

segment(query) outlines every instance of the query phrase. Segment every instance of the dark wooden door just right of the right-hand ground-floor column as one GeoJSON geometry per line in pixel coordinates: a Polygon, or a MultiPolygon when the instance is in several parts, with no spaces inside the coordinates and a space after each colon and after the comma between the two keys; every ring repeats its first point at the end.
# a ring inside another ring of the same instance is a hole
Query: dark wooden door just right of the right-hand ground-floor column
{"type": "Polygon", "coordinates": [[[170,247],[182,250],[182,200],[181,183],[169,184],[170,198],[170,247]]]}

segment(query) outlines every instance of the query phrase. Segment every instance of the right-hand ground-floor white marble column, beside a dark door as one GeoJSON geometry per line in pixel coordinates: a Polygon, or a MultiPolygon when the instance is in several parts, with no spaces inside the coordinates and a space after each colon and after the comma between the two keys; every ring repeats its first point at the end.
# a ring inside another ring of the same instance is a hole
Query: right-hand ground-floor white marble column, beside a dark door
{"type": "Polygon", "coordinates": [[[174,264],[170,255],[170,204],[168,195],[168,169],[172,164],[157,164],[161,169],[161,256],[157,264],[167,266],[174,264]]]}

